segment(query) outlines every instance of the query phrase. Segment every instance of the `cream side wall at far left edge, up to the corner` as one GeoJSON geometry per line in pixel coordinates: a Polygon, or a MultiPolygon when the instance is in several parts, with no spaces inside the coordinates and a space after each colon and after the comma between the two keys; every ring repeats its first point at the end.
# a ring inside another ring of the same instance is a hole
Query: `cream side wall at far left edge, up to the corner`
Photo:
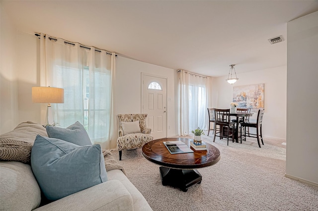
{"type": "Polygon", "coordinates": [[[18,119],[17,30],[2,7],[0,11],[0,134],[2,134],[12,130],[18,119]]]}

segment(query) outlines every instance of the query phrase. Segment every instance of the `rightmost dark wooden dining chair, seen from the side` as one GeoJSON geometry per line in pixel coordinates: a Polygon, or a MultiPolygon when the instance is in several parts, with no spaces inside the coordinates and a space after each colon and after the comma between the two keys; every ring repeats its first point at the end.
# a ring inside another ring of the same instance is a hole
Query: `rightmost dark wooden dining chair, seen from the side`
{"type": "Polygon", "coordinates": [[[264,109],[263,108],[260,108],[258,110],[258,113],[257,113],[257,119],[256,119],[256,122],[242,122],[240,123],[240,143],[242,143],[242,139],[244,139],[246,141],[246,137],[253,137],[253,138],[256,138],[257,139],[257,143],[258,143],[258,146],[261,148],[260,146],[260,141],[262,141],[262,144],[264,145],[264,142],[263,142],[263,136],[262,136],[262,121],[263,121],[263,116],[264,116],[264,109]],[[246,127],[248,128],[256,128],[256,134],[250,134],[249,132],[246,133],[246,127]],[[242,133],[242,130],[244,129],[244,132],[242,133]],[[242,134],[243,137],[242,137],[242,134]]]}

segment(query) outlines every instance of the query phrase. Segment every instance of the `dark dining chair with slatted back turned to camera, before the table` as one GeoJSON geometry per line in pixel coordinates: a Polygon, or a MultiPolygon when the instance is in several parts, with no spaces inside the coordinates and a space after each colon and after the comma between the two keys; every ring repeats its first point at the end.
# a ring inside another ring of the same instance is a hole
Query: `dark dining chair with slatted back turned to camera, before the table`
{"type": "Polygon", "coordinates": [[[217,108],[215,108],[214,109],[214,118],[215,118],[215,127],[217,127],[219,125],[220,129],[219,129],[219,132],[217,132],[217,131],[214,132],[213,142],[215,142],[216,137],[220,137],[220,139],[223,139],[226,137],[226,138],[228,138],[228,145],[229,145],[230,135],[232,136],[232,141],[234,142],[235,123],[231,122],[230,109],[217,109],[217,108]],[[219,134],[219,136],[217,134],[219,134]],[[225,134],[227,136],[225,136],[225,134]]]}

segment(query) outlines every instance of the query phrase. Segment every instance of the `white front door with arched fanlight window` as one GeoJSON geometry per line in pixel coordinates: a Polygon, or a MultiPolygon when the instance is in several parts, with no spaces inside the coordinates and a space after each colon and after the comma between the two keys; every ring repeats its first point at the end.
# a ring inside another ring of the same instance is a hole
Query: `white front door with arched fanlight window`
{"type": "Polygon", "coordinates": [[[154,140],[166,138],[166,78],[143,75],[142,85],[147,127],[152,129],[154,140]]]}

